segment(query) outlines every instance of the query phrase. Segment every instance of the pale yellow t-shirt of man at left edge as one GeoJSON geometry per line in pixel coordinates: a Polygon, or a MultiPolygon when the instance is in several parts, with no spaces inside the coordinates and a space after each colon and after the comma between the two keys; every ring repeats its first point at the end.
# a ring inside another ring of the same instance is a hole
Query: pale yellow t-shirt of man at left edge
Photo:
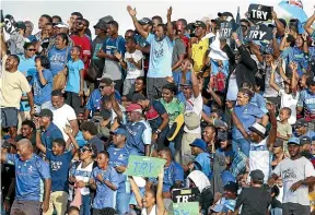
{"type": "Polygon", "coordinates": [[[0,106],[20,108],[22,93],[31,92],[30,84],[25,75],[20,72],[2,71],[0,79],[0,106]]]}

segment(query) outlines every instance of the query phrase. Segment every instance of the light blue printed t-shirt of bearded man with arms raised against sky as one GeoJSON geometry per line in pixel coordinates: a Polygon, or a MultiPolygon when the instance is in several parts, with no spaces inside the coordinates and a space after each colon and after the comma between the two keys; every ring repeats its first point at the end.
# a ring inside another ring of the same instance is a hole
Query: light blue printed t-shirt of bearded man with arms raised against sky
{"type": "Polygon", "coordinates": [[[175,43],[167,36],[158,41],[154,34],[149,34],[147,41],[151,45],[148,77],[172,76],[172,53],[175,43]]]}

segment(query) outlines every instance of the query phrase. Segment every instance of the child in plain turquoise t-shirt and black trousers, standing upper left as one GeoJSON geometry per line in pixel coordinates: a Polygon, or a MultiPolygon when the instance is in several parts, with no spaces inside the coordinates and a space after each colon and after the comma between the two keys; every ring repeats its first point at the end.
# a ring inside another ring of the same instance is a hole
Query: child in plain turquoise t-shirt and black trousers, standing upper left
{"type": "Polygon", "coordinates": [[[68,81],[66,84],[66,103],[74,107],[75,112],[81,106],[80,97],[83,96],[84,87],[84,62],[80,59],[81,48],[73,46],[71,51],[71,60],[68,61],[65,72],[68,73],[68,81]]]}

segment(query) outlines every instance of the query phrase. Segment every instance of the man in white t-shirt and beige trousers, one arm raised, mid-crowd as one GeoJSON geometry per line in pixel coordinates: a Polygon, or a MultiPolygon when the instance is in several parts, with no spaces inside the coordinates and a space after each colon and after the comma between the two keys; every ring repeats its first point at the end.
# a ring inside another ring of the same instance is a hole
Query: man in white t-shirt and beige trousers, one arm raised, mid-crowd
{"type": "Polygon", "coordinates": [[[201,139],[200,120],[203,101],[197,76],[194,72],[191,72],[191,84],[189,82],[185,82],[180,85],[186,98],[184,110],[185,126],[184,135],[182,139],[182,148],[180,152],[176,152],[175,160],[187,165],[189,162],[194,160],[189,144],[192,143],[195,139],[201,139]]]}

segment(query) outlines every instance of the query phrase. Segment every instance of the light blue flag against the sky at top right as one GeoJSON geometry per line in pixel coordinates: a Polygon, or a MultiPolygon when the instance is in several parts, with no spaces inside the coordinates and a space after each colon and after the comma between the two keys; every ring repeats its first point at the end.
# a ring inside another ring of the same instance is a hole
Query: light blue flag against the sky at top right
{"type": "Polygon", "coordinates": [[[303,3],[301,0],[282,0],[279,3],[279,7],[282,8],[284,11],[290,13],[293,17],[299,20],[299,34],[304,33],[304,24],[307,21],[307,15],[303,10],[303,3]]]}

